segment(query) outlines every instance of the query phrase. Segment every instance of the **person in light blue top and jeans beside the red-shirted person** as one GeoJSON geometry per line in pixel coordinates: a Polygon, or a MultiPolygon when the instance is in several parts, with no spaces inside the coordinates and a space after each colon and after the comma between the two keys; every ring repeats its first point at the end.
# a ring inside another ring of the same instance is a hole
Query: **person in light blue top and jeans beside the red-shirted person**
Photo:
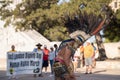
{"type": "Polygon", "coordinates": [[[49,53],[49,61],[50,61],[50,67],[51,67],[51,75],[53,76],[53,63],[54,63],[54,59],[55,59],[55,51],[53,49],[53,47],[50,47],[50,53],[49,53]]]}

